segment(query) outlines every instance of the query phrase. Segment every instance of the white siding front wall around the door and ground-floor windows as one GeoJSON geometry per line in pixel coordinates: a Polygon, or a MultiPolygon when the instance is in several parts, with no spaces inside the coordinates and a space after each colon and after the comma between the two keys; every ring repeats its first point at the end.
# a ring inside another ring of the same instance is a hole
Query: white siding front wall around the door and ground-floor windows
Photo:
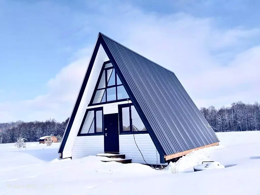
{"type": "MultiPolygon", "coordinates": [[[[115,102],[97,106],[89,106],[88,108],[103,107],[104,114],[118,113],[118,105],[128,103],[127,101],[115,102]]],[[[129,101],[131,103],[131,101],[129,101]]],[[[125,154],[126,158],[132,159],[134,163],[146,164],[142,158],[142,152],[145,161],[148,164],[160,164],[160,155],[153,144],[153,141],[148,133],[146,134],[128,134],[119,135],[119,152],[125,154]]],[[[89,155],[96,155],[104,152],[104,136],[93,135],[93,136],[78,136],[75,140],[72,149],[72,158],[82,158],[89,155]]]]}

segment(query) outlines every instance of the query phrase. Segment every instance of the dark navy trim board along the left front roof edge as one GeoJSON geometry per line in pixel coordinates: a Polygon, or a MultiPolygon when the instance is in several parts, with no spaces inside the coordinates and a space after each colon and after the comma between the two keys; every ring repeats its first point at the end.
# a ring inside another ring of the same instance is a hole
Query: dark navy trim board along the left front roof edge
{"type": "Polygon", "coordinates": [[[79,105],[80,105],[80,102],[81,102],[81,99],[82,99],[82,96],[83,96],[83,93],[84,93],[84,90],[85,90],[85,88],[86,88],[86,85],[87,85],[87,82],[88,82],[88,79],[89,79],[89,75],[90,75],[90,73],[91,73],[93,64],[94,64],[95,59],[96,59],[97,51],[99,50],[100,39],[101,39],[101,36],[98,35],[97,41],[96,41],[96,44],[95,44],[95,48],[94,48],[94,50],[93,50],[91,59],[90,59],[90,61],[89,61],[89,66],[88,66],[87,72],[86,72],[86,74],[85,74],[85,76],[84,76],[82,85],[81,85],[81,87],[80,87],[79,95],[78,95],[77,100],[76,100],[76,103],[75,103],[75,105],[74,105],[72,114],[71,114],[71,116],[70,116],[70,118],[69,118],[69,122],[68,122],[68,125],[67,125],[67,128],[66,128],[66,131],[65,131],[65,133],[64,133],[64,136],[63,136],[63,139],[62,139],[62,142],[61,142],[61,145],[60,145],[60,148],[59,148],[59,152],[58,152],[58,153],[63,152],[63,149],[64,149],[65,144],[66,144],[66,142],[67,142],[70,129],[71,129],[72,124],[73,124],[73,122],[74,122],[76,113],[77,113],[77,111],[78,111],[78,108],[79,108],[79,105]]]}

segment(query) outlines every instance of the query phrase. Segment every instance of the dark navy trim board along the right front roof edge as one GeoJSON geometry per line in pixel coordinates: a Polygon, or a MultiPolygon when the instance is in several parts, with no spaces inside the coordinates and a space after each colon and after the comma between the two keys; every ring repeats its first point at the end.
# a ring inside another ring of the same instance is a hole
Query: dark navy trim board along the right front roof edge
{"type": "MultiPolygon", "coordinates": [[[[101,33],[100,33],[100,34],[101,34],[101,33]]],[[[101,35],[103,35],[103,34],[101,34],[101,35]]],[[[103,35],[103,36],[105,36],[105,35],[103,35]]],[[[100,37],[102,37],[102,36],[100,36],[100,37]]],[[[118,64],[116,63],[116,61],[115,61],[113,55],[111,54],[110,50],[108,49],[107,44],[106,44],[105,40],[103,39],[103,37],[102,37],[102,39],[101,39],[101,44],[102,44],[103,49],[105,50],[105,52],[106,52],[106,54],[107,54],[109,60],[111,61],[111,63],[112,63],[112,65],[113,65],[113,67],[114,67],[116,73],[118,74],[119,79],[121,80],[123,86],[125,87],[126,92],[128,93],[128,95],[129,95],[129,97],[130,97],[130,99],[131,99],[131,101],[132,101],[132,103],[133,103],[133,105],[134,105],[134,107],[135,107],[137,113],[139,114],[139,116],[140,116],[141,120],[143,121],[143,123],[144,123],[144,125],[145,125],[145,127],[146,127],[146,129],[147,129],[147,131],[148,131],[148,133],[149,133],[149,135],[151,136],[151,139],[152,139],[152,141],[153,141],[153,143],[154,143],[154,145],[155,145],[155,147],[156,147],[158,153],[160,154],[160,162],[161,162],[161,163],[164,163],[164,155],[166,155],[166,153],[165,153],[164,149],[162,148],[162,146],[161,146],[161,144],[160,144],[160,142],[159,142],[157,136],[155,135],[155,133],[154,133],[154,131],[153,131],[151,125],[149,124],[147,118],[145,117],[145,114],[144,114],[144,112],[142,111],[142,109],[141,109],[139,103],[138,103],[137,100],[135,99],[135,97],[134,97],[134,95],[133,95],[131,89],[129,88],[129,86],[128,86],[126,80],[125,80],[125,78],[122,76],[122,73],[121,73],[121,71],[120,71],[120,69],[119,69],[119,67],[118,67],[118,64]]],[[[125,46],[124,46],[124,47],[125,47],[125,46]]],[[[138,54],[138,55],[139,55],[139,54],[138,54]]],[[[167,69],[166,69],[166,70],[167,70],[167,69]]]]}

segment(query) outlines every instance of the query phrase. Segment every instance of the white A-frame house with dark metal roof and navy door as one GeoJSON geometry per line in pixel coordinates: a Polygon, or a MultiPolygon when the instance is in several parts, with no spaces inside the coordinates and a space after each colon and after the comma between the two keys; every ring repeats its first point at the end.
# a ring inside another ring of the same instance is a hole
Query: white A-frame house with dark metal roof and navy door
{"type": "Polygon", "coordinates": [[[173,72],[99,33],[60,158],[105,152],[163,164],[218,142],[173,72]]]}

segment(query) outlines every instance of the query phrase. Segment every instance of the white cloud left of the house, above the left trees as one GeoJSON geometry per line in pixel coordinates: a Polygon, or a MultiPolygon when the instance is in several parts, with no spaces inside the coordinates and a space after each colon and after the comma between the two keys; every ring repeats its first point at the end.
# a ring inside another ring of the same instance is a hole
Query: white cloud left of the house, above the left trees
{"type": "Polygon", "coordinates": [[[82,57],[64,67],[48,81],[47,94],[39,95],[32,100],[0,102],[0,122],[49,118],[64,121],[70,115],[88,61],[89,57],[82,57]]]}

